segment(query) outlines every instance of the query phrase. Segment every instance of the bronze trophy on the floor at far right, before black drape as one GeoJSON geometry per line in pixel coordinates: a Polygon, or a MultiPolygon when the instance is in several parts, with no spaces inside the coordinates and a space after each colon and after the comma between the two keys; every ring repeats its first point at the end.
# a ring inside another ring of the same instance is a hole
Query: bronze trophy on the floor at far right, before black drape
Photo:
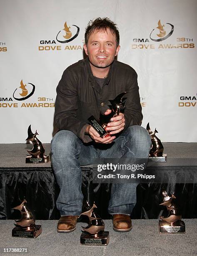
{"type": "Polygon", "coordinates": [[[176,197],[173,194],[169,197],[166,191],[163,191],[162,195],[163,202],[160,205],[166,206],[168,213],[166,217],[160,216],[160,233],[185,233],[185,223],[181,220],[182,215],[176,197]]]}

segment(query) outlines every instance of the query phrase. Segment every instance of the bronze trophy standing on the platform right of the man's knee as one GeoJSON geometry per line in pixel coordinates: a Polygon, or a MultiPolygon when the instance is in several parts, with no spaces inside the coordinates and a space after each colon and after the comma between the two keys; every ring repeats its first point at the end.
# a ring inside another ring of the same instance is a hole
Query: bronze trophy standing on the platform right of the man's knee
{"type": "Polygon", "coordinates": [[[164,147],[162,145],[162,142],[155,135],[155,133],[158,133],[158,131],[156,130],[156,128],[155,128],[155,131],[151,131],[149,123],[147,124],[146,129],[150,134],[150,138],[152,142],[152,148],[150,149],[150,154],[149,154],[149,161],[166,162],[167,154],[163,154],[164,147]]]}

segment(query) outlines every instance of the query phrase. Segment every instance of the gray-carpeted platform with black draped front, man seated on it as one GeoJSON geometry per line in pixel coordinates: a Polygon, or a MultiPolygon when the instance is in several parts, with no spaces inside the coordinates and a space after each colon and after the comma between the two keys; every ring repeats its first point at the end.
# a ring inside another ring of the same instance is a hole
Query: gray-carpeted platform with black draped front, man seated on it
{"type": "MultiPolygon", "coordinates": [[[[163,210],[162,190],[177,196],[182,207],[183,218],[197,218],[197,143],[163,143],[167,162],[148,163],[149,171],[165,171],[167,182],[147,182],[137,186],[137,204],[133,219],[155,219],[163,210]],[[185,173],[180,182],[179,174],[185,173]],[[188,173],[192,178],[188,182],[188,173]],[[176,177],[172,174],[176,173],[176,177]],[[177,182],[179,181],[179,182],[177,182]]],[[[45,154],[50,155],[50,144],[44,144],[45,154]]],[[[0,144],[0,219],[16,218],[11,210],[18,204],[18,194],[25,197],[37,220],[56,220],[60,217],[55,202],[59,187],[51,163],[25,164],[27,151],[32,144],[0,144]]],[[[109,219],[107,205],[111,184],[92,184],[92,169],[82,168],[82,192],[85,200],[95,201],[99,214],[109,219]],[[93,193],[92,193],[93,191],[93,193]]]]}

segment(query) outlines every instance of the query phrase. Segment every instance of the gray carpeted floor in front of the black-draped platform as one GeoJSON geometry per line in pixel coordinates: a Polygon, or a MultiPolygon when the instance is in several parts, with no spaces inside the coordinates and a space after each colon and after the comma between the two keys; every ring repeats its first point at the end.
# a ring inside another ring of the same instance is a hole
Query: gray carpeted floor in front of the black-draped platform
{"type": "MultiPolygon", "coordinates": [[[[42,233],[37,238],[12,238],[11,231],[14,220],[0,220],[0,255],[3,248],[28,248],[30,256],[122,256],[122,255],[153,255],[178,256],[196,255],[197,220],[185,219],[185,234],[160,234],[158,220],[132,220],[133,229],[127,233],[118,233],[112,229],[112,220],[105,220],[105,230],[110,232],[108,246],[80,245],[80,227],[72,233],[57,233],[57,220],[37,220],[42,225],[42,233]]],[[[19,255],[15,253],[9,253],[19,255]]],[[[22,255],[23,255],[22,254],[22,255]]]]}

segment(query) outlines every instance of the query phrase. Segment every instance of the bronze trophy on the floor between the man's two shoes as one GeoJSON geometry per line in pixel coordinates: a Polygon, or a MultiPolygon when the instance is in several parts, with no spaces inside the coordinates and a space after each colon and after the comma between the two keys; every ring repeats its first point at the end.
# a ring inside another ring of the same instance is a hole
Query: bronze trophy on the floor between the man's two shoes
{"type": "Polygon", "coordinates": [[[92,208],[81,215],[86,215],[89,218],[87,227],[82,227],[83,232],[80,237],[80,244],[82,245],[107,245],[110,240],[109,231],[104,231],[105,224],[100,216],[94,212],[97,208],[93,204],[92,208]]]}

